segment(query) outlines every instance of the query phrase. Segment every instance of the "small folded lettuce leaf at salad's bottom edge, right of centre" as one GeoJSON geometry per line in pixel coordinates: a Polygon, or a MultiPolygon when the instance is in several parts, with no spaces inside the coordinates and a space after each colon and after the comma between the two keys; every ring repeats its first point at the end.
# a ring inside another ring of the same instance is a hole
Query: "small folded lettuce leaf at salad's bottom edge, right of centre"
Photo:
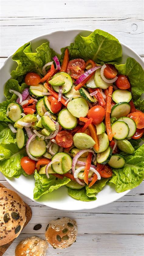
{"type": "Polygon", "coordinates": [[[98,180],[95,182],[94,185],[92,185],[90,188],[86,185],[86,193],[88,197],[95,196],[96,193],[100,192],[101,189],[105,186],[109,178],[101,178],[101,180],[98,180]]]}

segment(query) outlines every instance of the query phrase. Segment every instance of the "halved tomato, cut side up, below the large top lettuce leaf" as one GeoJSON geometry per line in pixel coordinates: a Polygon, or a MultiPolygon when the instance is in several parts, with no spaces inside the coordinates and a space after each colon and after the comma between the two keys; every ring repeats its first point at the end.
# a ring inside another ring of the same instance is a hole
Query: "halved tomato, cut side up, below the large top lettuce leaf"
{"type": "Polygon", "coordinates": [[[70,74],[71,77],[77,79],[81,74],[84,73],[84,69],[85,61],[83,59],[74,59],[69,61],[67,73],[70,74]]]}

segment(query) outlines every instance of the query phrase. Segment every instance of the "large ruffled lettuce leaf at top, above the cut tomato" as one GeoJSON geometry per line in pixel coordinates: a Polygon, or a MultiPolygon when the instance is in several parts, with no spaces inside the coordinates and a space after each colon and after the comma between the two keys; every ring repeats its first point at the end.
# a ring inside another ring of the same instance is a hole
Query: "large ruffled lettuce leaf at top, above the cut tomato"
{"type": "MultiPolygon", "coordinates": [[[[92,59],[97,63],[119,63],[122,57],[122,46],[111,34],[96,29],[89,36],[78,35],[74,43],[65,47],[69,49],[71,58],[83,58],[85,61],[92,59]]],[[[62,48],[62,58],[65,48],[62,48]]]]}

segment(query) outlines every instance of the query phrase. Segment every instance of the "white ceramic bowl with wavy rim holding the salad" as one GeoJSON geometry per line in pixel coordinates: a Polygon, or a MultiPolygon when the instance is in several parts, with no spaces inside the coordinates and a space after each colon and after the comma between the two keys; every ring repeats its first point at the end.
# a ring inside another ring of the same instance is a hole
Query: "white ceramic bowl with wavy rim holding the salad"
{"type": "MultiPolygon", "coordinates": [[[[57,53],[60,53],[60,49],[72,43],[77,34],[81,33],[83,36],[88,36],[92,31],[88,30],[62,30],[62,31],[54,31],[49,34],[45,34],[39,37],[36,37],[31,41],[32,49],[35,50],[40,44],[50,41],[50,47],[53,48],[57,53]]],[[[136,54],[131,48],[122,44],[122,52],[123,58],[122,63],[125,63],[127,57],[133,57],[136,61],[138,61],[141,65],[143,62],[138,54],[136,54]]],[[[1,77],[1,87],[0,87],[0,102],[4,100],[3,88],[5,82],[10,78],[10,72],[12,69],[16,67],[14,61],[12,61],[12,55],[7,58],[4,65],[0,70],[1,77]]],[[[31,200],[33,200],[33,188],[35,184],[35,180],[33,177],[24,177],[21,175],[17,178],[6,178],[10,185],[19,191],[21,194],[27,196],[31,200]]],[[[41,196],[39,200],[36,200],[39,204],[43,204],[52,208],[60,209],[60,210],[82,210],[82,209],[93,209],[98,206],[102,206],[115,200],[118,200],[122,196],[126,195],[130,190],[127,190],[122,193],[117,193],[113,188],[106,185],[100,193],[97,194],[97,200],[92,202],[82,202],[73,199],[67,193],[67,187],[63,186],[58,190],[53,191],[52,193],[48,193],[46,195],[41,196]]]]}

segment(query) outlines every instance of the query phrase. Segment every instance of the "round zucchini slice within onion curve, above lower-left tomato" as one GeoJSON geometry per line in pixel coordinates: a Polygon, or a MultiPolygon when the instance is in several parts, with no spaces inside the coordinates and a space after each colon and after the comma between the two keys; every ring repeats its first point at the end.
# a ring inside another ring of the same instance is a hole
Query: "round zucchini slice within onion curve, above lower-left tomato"
{"type": "Polygon", "coordinates": [[[33,157],[41,157],[46,153],[46,142],[34,139],[29,145],[29,152],[33,157]]]}

